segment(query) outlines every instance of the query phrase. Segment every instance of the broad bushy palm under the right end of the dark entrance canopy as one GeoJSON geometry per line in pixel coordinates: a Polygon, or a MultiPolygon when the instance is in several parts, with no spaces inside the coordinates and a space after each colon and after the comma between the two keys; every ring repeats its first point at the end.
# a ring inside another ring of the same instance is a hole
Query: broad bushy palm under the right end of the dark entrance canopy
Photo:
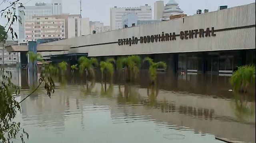
{"type": "Polygon", "coordinates": [[[94,68],[98,66],[98,60],[96,58],[86,58],[84,56],[80,57],[78,59],[78,64],[79,64],[79,71],[82,75],[84,70],[86,71],[86,77],[87,77],[87,72],[90,72],[90,75],[94,77],[94,68]],[[88,69],[88,71],[87,71],[88,69]]]}

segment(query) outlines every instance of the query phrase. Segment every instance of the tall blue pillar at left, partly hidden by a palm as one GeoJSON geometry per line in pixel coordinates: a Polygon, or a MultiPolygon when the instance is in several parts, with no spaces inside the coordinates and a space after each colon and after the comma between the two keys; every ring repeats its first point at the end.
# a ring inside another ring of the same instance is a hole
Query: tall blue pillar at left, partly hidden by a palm
{"type": "MultiPolygon", "coordinates": [[[[28,42],[28,51],[33,52],[34,54],[37,54],[37,43],[36,43],[36,41],[28,42]]],[[[31,61],[31,60],[32,59],[29,58],[29,62],[28,62],[30,89],[32,87],[36,87],[37,86],[37,81],[38,81],[38,79],[37,79],[37,60],[36,59],[34,59],[34,61],[31,61]]]]}

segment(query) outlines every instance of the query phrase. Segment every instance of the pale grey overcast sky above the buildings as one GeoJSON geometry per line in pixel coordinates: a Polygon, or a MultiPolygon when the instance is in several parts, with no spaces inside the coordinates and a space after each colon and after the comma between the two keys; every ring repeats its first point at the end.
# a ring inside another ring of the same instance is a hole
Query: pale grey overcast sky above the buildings
{"type": "MultiPolygon", "coordinates": [[[[1,1],[1,0],[0,0],[1,1]]],[[[23,3],[29,0],[22,0],[23,3]]],[[[136,7],[148,4],[152,7],[154,14],[154,2],[156,0],[82,0],[82,17],[90,18],[90,21],[104,22],[104,25],[110,25],[110,8],[117,7],[136,7]]],[[[169,0],[164,0],[166,4],[169,0]]],[[[50,3],[51,0],[31,0],[26,5],[33,6],[36,2],[50,3]]],[[[228,5],[228,8],[250,4],[255,0],[176,0],[185,14],[193,15],[196,10],[208,9],[215,11],[220,5],[228,5]]],[[[62,0],[63,12],[70,14],[79,14],[80,0],[62,0]]],[[[25,6],[26,6],[25,5],[25,6]]]]}

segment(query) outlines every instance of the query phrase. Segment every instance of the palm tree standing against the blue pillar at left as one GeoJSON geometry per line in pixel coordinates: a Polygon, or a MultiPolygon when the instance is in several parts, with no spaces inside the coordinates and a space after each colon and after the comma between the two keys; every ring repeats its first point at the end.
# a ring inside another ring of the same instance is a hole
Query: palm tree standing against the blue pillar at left
{"type": "MultiPolygon", "coordinates": [[[[31,70],[34,71],[36,70],[36,73],[37,73],[37,61],[43,61],[42,60],[42,55],[40,53],[34,53],[33,51],[29,51],[27,53],[27,56],[28,56],[28,59],[29,59],[29,62],[32,63],[32,67],[31,67],[31,70]]],[[[35,77],[36,75],[34,75],[34,72],[32,74],[32,81],[34,82],[32,86],[36,86],[36,82],[34,79],[36,78],[35,77]]],[[[33,87],[32,87],[33,88],[33,87]]]]}

